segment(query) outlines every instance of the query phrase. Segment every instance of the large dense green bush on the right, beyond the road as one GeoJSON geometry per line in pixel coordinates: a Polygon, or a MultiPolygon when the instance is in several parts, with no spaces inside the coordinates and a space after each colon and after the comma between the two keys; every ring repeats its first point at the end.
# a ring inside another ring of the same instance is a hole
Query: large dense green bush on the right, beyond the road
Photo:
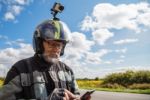
{"type": "Polygon", "coordinates": [[[126,71],[124,73],[113,73],[104,78],[103,84],[119,84],[128,87],[134,83],[150,83],[150,71],[126,71]]]}

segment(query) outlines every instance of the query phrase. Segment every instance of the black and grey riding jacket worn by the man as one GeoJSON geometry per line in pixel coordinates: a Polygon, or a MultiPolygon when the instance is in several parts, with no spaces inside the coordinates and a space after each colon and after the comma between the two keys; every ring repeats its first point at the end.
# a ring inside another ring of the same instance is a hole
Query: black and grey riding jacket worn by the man
{"type": "Polygon", "coordinates": [[[49,64],[34,55],[9,70],[0,100],[62,100],[63,90],[79,94],[73,71],[64,63],[49,64]]]}

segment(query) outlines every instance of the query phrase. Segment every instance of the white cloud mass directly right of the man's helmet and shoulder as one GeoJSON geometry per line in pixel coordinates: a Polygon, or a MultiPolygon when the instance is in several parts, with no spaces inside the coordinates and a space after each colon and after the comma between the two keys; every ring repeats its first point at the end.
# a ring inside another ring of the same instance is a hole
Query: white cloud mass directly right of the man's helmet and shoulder
{"type": "Polygon", "coordinates": [[[70,42],[65,48],[65,55],[62,60],[74,70],[78,78],[92,78],[97,76],[97,70],[90,69],[88,64],[101,64],[102,57],[108,54],[109,50],[102,49],[93,52],[91,49],[95,45],[94,41],[88,40],[83,33],[69,33],[70,42]]]}

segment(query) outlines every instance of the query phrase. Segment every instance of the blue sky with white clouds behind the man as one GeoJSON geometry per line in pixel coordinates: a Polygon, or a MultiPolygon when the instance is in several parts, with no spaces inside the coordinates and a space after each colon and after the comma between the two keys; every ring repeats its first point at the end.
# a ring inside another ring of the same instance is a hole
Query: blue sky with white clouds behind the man
{"type": "Polygon", "coordinates": [[[0,0],[0,76],[34,55],[33,32],[55,2],[69,34],[61,60],[76,78],[150,70],[150,0],[0,0]]]}

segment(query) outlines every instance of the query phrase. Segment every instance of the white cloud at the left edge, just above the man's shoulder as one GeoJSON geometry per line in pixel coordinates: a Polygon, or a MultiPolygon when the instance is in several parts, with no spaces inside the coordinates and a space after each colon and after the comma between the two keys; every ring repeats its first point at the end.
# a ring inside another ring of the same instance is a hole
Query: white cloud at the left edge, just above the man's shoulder
{"type": "Polygon", "coordinates": [[[19,43],[19,48],[6,48],[0,50],[0,73],[8,69],[18,60],[30,57],[34,54],[30,44],[19,43]]]}

